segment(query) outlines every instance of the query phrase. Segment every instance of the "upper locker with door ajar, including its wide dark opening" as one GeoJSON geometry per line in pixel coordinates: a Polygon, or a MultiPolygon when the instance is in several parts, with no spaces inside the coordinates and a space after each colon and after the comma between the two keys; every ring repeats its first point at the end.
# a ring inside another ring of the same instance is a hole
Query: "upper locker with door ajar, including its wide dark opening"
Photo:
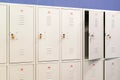
{"type": "Polygon", "coordinates": [[[85,10],[85,59],[103,57],[103,12],[85,10]]]}

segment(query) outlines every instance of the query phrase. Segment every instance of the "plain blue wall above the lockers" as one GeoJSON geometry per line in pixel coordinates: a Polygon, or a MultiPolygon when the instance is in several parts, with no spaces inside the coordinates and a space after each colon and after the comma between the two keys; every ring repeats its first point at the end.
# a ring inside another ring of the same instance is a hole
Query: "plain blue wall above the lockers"
{"type": "Polygon", "coordinates": [[[120,11],[120,0],[0,0],[0,2],[120,11]]]}

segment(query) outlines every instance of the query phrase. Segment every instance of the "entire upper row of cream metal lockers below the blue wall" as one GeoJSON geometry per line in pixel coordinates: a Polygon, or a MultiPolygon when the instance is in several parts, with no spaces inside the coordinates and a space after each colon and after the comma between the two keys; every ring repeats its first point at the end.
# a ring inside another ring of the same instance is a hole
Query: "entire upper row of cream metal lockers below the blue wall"
{"type": "Polygon", "coordinates": [[[10,62],[35,52],[38,61],[120,57],[119,20],[119,11],[0,5],[0,63],[6,53],[10,62]]]}

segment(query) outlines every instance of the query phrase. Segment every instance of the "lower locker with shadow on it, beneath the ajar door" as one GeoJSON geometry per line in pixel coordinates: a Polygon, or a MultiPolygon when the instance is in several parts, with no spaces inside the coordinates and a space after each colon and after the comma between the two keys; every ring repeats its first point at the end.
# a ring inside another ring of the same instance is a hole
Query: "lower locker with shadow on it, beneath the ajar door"
{"type": "Polygon", "coordinates": [[[84,61],[83,80],[103,80],[103,61],[84,61]]]}

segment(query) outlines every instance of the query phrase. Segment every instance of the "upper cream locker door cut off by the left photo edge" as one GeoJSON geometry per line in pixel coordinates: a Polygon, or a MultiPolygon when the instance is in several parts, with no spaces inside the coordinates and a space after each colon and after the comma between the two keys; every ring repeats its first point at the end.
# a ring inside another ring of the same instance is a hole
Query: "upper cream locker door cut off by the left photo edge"
{"type": "Polygon", "coordinates": [[[0,5],[0,63],[6,62],[6,8],[0,5]]]}

